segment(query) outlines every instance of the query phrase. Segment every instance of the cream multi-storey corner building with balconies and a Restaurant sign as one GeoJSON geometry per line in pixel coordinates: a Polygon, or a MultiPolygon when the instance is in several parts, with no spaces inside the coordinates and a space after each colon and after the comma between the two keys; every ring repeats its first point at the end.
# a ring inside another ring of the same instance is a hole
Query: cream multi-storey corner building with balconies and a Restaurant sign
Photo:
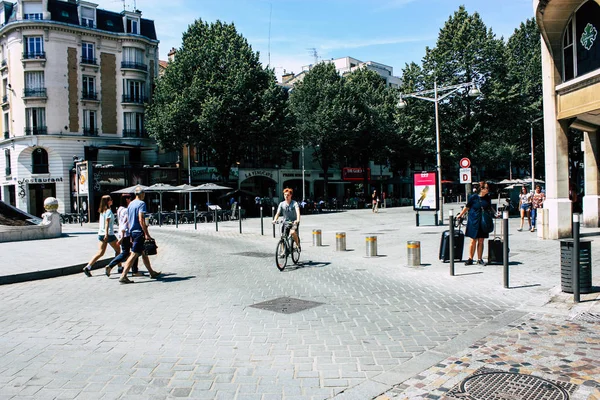
{"type": "Polygon", "coordinates": [[[0,23],[3,201],[40,215],[54,196],[74,211],[76,158],[93,168],[97,194],[169,175],[153,169],[160,154],[144,129],[158,76],[153,21],[87,1],[18,0],[0,2],[0,23]]]}

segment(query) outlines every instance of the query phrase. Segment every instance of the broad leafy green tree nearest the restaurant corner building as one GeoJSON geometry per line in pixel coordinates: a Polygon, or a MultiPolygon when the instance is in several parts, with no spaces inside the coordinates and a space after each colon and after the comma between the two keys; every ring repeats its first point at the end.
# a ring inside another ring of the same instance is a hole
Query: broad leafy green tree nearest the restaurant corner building
{"type": "Polygon", "coordinates": [[[260,154],[284,154],[281,145],[291,125],[286,99],[273,71],[261,66],[233,24],[197,20],[157,80],[146,127],[166,149],[190,144],[210,149],[227,179],[231,166],[257,148],[260,154]]]}

